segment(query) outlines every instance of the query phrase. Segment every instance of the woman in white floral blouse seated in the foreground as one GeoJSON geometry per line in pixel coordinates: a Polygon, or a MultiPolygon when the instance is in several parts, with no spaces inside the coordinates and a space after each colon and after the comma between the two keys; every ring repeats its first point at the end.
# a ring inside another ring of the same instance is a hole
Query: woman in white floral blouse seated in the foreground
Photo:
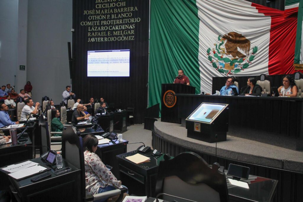
{"type": "MultiPolygon", "coordinates": [[[[83,138],[85,163],[85,194],[92,196],[125,187],[113,175],[94,152],[98,147],[98,138],[88,134],[83,138]]],[[[125,187],[127,188],[127,187],[125,187]]],[[[102,200],[105,201],[106,199],[102,200]]]]}

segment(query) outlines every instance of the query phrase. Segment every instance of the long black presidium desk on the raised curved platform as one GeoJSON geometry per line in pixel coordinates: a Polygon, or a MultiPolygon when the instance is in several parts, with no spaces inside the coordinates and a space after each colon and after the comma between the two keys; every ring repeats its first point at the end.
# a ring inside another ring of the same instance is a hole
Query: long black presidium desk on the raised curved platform
{"type": "MultiPolygon", "coordinates": [[[[229,104],[228,135],[292,150],[303,149],[301,98],[176,94],[178,118],[185,119],[202,102],[229,104]]],[[[202,129],[203,130],[203,129],[202,129]]]]}

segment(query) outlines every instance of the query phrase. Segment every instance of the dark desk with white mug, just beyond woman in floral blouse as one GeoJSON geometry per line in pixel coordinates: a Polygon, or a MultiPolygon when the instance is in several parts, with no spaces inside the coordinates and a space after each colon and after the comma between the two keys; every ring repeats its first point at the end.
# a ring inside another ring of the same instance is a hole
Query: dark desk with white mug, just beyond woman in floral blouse
{"type": "Polygon", "coordinates": [[[127,152],[127,140],[112,140],[108,144],[98,145],[95,152],[105,165],[112,166],[112,173],[119,178],[118,161],[116,156],[127,152]]]}

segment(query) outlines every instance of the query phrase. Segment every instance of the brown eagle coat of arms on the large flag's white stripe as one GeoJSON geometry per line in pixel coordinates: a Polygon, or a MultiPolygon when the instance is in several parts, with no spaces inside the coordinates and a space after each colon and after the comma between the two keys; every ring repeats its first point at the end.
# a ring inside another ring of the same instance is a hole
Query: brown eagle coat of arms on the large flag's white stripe
{"type": "Polygon", "coordinates": [[[237,32],[218,36],[214,48],[207,49],[207,57],[213,68],[226,76],[239,73],[249,67],[255,59],[258,47],[250,52],[250,41],[237,32]]]}

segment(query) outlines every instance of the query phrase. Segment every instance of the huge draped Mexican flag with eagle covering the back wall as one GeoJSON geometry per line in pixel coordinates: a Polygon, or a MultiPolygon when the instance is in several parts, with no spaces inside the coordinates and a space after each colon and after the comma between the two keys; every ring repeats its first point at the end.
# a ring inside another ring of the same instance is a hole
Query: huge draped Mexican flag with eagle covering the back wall
{"type": "Polygon", "coordinates": [[[297,13],[245,0],[151,0],[149,106],[178,69],[196,93],[211,93],[212,77],[293,73],[297,13]]]}

